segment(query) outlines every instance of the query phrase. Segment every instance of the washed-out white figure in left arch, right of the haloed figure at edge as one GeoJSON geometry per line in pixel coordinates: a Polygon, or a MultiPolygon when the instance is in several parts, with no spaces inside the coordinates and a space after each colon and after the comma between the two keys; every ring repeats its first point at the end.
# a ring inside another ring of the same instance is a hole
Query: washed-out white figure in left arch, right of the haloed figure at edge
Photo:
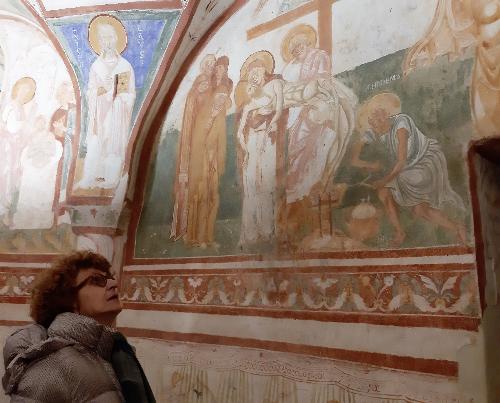
{"type": "Polygon", "coordinates": [[[38,116],[20,158],[23,171],[11,228],[52,228],[62,153],[63,146],[47,130],[47,121],[43,116],[38,116]]]}

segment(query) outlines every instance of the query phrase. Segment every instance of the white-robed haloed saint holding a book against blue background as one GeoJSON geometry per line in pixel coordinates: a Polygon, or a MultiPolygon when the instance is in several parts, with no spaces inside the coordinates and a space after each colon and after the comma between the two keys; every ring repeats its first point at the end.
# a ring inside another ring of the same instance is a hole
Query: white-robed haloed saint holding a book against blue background
{"type": "Polygon", "coordinates": [[[99,57],[90,67],[87,87],[87,154],[77,187],[113,189],[122,179],[135,101],[131,64],[120,53],[127,34],[121,22],[98,16],[89,40],[99,57]]]}

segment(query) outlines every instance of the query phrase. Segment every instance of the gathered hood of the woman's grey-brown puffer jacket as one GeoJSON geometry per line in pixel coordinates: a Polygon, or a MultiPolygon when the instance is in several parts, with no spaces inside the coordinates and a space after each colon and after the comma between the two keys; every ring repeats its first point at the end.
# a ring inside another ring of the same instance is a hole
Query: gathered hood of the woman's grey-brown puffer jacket
{"type": "Polygon", "coordinates": [[[58,315],[48,329],[31,324],[10,335],[3,349],[5,393],[15,392],[29,365],[64,347],[81,345],[96,351],[109,361],[113,349],[112,330],[94,319],[65,312],[58,315]]]}

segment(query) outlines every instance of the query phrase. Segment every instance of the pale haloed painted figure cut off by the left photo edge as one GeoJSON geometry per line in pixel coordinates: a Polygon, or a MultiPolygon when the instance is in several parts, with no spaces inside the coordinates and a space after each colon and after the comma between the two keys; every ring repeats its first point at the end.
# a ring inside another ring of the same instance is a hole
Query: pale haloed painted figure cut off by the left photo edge
{"type": "Polygon", "coordinates": [[[11,100],[1,115],[0,121],[0,217],[7,226],[12,224],[14,197],[22,175],[21,154],[29,140],[29,122],[32,119],[36,83],[31,77],[16,81],[11,91],[11,100]]]}

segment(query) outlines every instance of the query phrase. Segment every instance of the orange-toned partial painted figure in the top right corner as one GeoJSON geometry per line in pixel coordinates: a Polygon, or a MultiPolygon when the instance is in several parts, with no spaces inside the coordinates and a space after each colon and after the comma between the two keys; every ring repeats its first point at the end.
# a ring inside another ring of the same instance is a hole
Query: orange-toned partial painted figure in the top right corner
{"type": "Polygon", "coordinates": [[[500,131],[499,21],[498,0],[439,0],[428,31],[408,51],[403,63],[408,75],[439,56],[448,55],[453,60],[475,46],[470,104],[480,136],[500,131]]]}

